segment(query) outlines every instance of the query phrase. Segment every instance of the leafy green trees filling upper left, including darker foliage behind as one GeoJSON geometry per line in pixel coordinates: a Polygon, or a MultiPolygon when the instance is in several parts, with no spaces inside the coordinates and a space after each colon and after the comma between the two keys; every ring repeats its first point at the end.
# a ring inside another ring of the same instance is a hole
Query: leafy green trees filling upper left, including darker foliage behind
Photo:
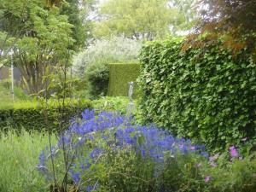
{"type": "Polygon", "coordinates": [[[54,73],[55,65],[67,62],[64,60],[73,51],[84,46],[86,32],[80,3],[79,0],[1,1],[2,62],[10,63],[9,50],[13,49],[15,66],[20,69],[22,82],[29,93],[42,90],[47,72],[54,73]]]}

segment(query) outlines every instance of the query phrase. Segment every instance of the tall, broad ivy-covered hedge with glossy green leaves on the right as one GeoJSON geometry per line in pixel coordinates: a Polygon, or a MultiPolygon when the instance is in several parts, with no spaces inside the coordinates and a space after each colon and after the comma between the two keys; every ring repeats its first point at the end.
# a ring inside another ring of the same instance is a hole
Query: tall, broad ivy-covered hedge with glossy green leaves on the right
{"type": "MultiPolygon", "coordinates": [[[[144,44],[140,109],[178,137],[222,150],[256,133],[256,63],[218,44],[182,50],[183,39],[144,44]]],[[[254,140],[253,140],[254,139],[254,140]]]]}

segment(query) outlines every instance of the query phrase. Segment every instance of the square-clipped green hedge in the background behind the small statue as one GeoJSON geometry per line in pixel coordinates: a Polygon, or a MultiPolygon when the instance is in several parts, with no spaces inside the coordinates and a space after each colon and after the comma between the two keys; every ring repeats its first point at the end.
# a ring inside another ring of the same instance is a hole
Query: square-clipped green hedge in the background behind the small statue
{"type": "MultiPolygon", "coordinates": [[[[139,63],[112,63],[109,68],[108,96],[128,96],[129,84],[136,83],[140,73],[139,63]]],[[[137,96],[137,84],[134,86],[137,96]]]]}

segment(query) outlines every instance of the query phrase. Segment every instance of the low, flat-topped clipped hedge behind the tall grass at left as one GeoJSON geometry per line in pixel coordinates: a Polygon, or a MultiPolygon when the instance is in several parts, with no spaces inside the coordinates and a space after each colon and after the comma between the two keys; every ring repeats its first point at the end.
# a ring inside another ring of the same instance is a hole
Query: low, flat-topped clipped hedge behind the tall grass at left
{"type": "MultiPolygon", "coordinates": [[[[44,106],[44,105],[43,105],[44,106]]],[[[21,128],[26,131],[56,131],[60,127],[60,122],[64,126],[69,124],[69,120],[85,108],[91,108],[91,102],[84,100],[82,102],[66,102],[63,108],[61,104],[49,102],[49,105],[43,107],[36,102],[24,102],[15,104],[13,108],[0,109],[0,130],[21,128]],[[48,125],[45,122],[45,113],[48,117],[48,125]],[[62,116],[63,114],[63,116],[62,116]]]]}

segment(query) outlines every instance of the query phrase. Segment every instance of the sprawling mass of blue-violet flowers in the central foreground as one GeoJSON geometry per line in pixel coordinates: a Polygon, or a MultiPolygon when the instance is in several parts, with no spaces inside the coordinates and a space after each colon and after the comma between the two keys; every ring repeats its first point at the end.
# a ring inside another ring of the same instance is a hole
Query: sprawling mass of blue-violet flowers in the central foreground
{"type": "MultiPolygon", "coordinates": [[[[175,158],[177,153],[207,156],[204,146],[172,137],[168,131],[154,125],[132,125],[131,120],[119,113],[103,111],[96,115],[94,111],[86,109],[82,118],[72,119],[67,131],[59,136],[56,147],[51,150],[52,155],[58,161],[63,148],[69,153],[70,177],[79,189],[86,191],[96,189],[98,184],[97,180],[95,183],[86,181],[84,175],[93,172],[97,162],[109,152],[113,154],[128,148],[142,160],[150,160],[158,165],[163,164],[166,158],[175,158]]],[[[47,177],[49,157],[45,157],[43,151],[38,164],[38,170],[47,177]]]]}

